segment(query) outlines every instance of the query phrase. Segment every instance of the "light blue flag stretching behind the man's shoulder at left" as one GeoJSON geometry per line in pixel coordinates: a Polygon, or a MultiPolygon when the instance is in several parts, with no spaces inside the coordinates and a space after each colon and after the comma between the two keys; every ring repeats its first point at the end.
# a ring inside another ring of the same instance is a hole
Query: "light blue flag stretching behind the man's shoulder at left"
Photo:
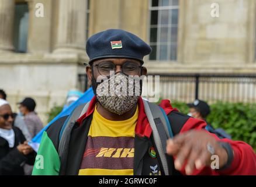
{"type": "Polygon", "coordinates": [[[36,134],[36,136],[33,137],[32,140],[29,142],[29,146],[31,146],[33,150],[37,152],[40,146],[40,141],[41,141],[41,137],[43,136],[43,132],[46,131],[51,124],[53,124],[60,117],[70,115],[70,113],[78,105],[91,101],[93,97],[94,97],[94,91],[92,91],[92,88],[89,88],[79,99],[77,99],[77,101],[75,101],[70,106],[68,106],[68,108],[65,108],[61,113],[59,113],[56,117],[54,117],[54,119],[51,120],[51,122],[48,123],[47,126],[45,126],[38,134],[36,134]]]}

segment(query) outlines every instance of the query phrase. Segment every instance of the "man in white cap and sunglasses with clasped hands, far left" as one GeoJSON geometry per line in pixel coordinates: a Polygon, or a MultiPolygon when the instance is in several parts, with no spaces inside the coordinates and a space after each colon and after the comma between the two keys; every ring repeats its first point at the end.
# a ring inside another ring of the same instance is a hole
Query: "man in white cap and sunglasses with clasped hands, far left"
{"type": "Polygon", "coordinates": [[[23,165],[34,164],[36,157],[22,131],[12,124],[11,106],[0,99],[0,175],[24,175],[23,165]]]}

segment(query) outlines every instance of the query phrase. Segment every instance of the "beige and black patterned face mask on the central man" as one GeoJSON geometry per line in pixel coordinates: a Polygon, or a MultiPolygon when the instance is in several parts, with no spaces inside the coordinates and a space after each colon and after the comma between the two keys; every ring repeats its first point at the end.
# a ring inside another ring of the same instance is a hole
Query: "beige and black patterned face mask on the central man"
{"type": "Polygon", "coordinates": [[[92,81],[92,86],[96,92],[96,98],[103,108],[117,115],[122,115],[132,109],[141,93],[140,81],[136,81],[122,72],[110,75],[108,79],[105,78],[99,84],[92,81]]]}

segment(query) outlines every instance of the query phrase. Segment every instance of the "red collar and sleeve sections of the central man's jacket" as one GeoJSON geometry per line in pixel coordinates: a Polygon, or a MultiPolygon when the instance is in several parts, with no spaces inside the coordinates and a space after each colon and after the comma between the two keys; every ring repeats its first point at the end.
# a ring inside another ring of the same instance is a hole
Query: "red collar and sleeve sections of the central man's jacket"
{"type": "MultiPolygon", "coordinates": [[[[81,116],[77,122],[80,124],[82,121],[89,115],[94,112],[96,103],[96,98],[94,97],[89,105],[87,113],[81,116]]],[[[139,117],[135,129],[135,133],[137,136],[146,136],[150,137],[152,129],[150,124],[148,123],[146,113],[144,112],[144,105],[142,98],[139,98],[138,101],[139,106],[139,117]]],[[[162,109],[164,109],[165,113],[168,115],[172,111],[178,111],[175,108],[172,108],[169,100],[164,99],[161,101],[160,105],[162,109]]],[[[198,120],[193,117],[189,117],[188,121],[184,124],[180,133],[184,133],[188,130],[202,130],[205,129],[206,122],[203,120],[198,120]]],[[[206,131],[206,133],[209,133],[206,131]]],[[[228,169],[224,169],[222,171],[216,171],[209,167],[205,167],[203,169],[195,169],[192,175],[256,175],[256,154],[252,150],[251,146],[244,143],[243,141],[232,141],[229,139],[219,139],[215,134],[209,133],[216,138],[218,141],[226,141],[231,144],[231,147],[234,151],[234,160],[231,164],[231,167],[228,169]]],[[[175,158],[174,158],[175,160],[175,158]]],[[[185,175],[185,167],[181,170],[182,174],[185,175]]]]}

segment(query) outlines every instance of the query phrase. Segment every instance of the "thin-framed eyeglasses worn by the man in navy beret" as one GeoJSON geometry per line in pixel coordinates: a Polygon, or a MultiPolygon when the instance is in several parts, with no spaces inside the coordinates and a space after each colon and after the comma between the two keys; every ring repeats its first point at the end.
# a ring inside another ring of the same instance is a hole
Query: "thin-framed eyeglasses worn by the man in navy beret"
{"type": "MultiPolygon", "coordinates": [[[[111,61],[103,61],[99,64],[92,65],[92,66],[98,67],[99,74],[103,76],[109,76],[110,71],[115,72],[116,70],[116,64],[114,64],[111,61]]],[[[142,67],[141,65],[137,63],[133,63],[132,61],[127,61],[120,66],[123,74],[126,74],[126,75],[138,75],[142,67]]]]}

